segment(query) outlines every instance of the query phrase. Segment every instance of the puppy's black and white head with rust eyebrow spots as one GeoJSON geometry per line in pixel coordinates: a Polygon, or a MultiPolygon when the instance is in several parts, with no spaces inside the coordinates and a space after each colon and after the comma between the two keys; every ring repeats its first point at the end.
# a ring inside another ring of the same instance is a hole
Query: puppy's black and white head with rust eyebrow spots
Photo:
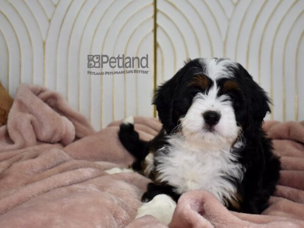
{"type": "Polygon", "coordinates": [[[227,58],[188,61],[154,98],[168,134],[231,144],[242,131],[254,134],[270,111],[269,98],[239,63],[227,58]]]}

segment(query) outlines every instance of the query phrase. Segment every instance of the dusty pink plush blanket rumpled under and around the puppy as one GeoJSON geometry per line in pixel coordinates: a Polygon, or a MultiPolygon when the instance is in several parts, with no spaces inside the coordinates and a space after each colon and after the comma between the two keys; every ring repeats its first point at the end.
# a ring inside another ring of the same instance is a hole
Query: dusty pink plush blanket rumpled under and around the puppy
{"type": "MultiPolygon", "coordinates": [[[[95,132],[59,94],[21,85],[0,128],[0,227],[167,227],[153,216],[134,220],[149,180],[112,173],[133,161],[113,122],[95,132]],[[106,171],[106,172],[105,172],[106,171]]],[[[144,140],[161,124],[135,118],[144,140]]],[[[304,227],[304,123],[266,122],[281,156],[281,179],[262,215],[228,211],[210,193],[181,196],[170,227],[304,227]]]]}

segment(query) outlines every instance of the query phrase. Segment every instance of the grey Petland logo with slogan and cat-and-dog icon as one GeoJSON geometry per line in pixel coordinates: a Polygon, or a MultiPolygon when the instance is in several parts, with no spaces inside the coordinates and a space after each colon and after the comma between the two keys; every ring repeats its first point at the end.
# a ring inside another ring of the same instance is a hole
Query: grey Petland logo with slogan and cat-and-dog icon
{"type": "Polygon", "coordinates": [[[91,71],[88,70],[88,74],[93,75],[113,75],[113,74],[126,74],[126,73],[144,73],[148,74],[149,70],[138,70],[134,68],[149,68],[148,55],[139,57],[129,57],[118,55],[117,57],[109,57],[108,55],[88,55],[88,68],[104,68],[110,67],[112,69],[119,68],[122,70],[114,71],[91,71]]]}

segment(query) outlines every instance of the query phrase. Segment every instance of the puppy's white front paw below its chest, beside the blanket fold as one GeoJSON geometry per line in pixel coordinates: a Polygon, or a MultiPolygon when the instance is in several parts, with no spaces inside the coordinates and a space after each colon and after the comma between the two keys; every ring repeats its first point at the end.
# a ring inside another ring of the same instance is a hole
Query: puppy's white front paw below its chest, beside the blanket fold
{"type": "MultiPolygon", "coordinates": [[[[150,196],[147,196],[147,199],[149,199],[149,197],[150,196]]],[[[172,219],[175,207],[176,203],[171,197],[160,194],[155,196],[148,203],[143,203],[137,210],[136,218],[149,214],[168,225],[172,219]]]]}

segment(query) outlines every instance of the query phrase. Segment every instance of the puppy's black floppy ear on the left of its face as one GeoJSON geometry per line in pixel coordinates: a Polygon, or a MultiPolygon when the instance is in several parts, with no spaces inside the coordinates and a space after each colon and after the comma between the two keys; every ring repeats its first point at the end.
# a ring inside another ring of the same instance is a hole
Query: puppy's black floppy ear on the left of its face
{"type": "Polygon", "coordinates": [[[176,81],[176,77],[173,77],[163,85],[159,86],[153,99],[153,104],[156,105],[158,116],[168,134],[170,134],[175,127],[175,121],[173,120],[172,115],[174,97],[177,88],[176,81]]]}

